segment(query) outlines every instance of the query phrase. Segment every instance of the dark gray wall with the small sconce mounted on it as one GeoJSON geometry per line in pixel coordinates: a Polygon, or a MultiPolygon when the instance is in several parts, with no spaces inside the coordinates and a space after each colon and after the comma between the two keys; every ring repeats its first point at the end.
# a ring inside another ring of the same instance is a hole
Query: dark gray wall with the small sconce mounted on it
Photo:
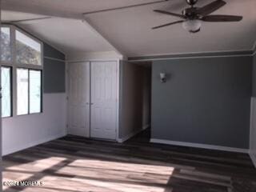
{"type": "Polygon", "coordinates": [[[248,149],[251,59],[154,62],[151,138],[248,149]],[[166,83],[160,72],[169,74],[166,83]]]}

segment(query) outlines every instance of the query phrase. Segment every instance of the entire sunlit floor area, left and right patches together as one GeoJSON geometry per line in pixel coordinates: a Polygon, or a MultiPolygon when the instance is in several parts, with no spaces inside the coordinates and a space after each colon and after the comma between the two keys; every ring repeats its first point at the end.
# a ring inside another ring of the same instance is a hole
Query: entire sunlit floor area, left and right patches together
{"type": "MultiPolygon", "coordinates": [[[[46,158],[6,167],[4,181],[38,180],[43,186],[25,187],[22,191],[164,192],[174,167],[101,161],[98,159],[46,158]],[[33,166],[33,169],[30,169],[33,166]],[[33,171],[30,171],[33,170],[33,171]],[[49,171],[42,173],[41,171],[49,171]]],[[[4,190],[8,187],[4,187],[4,190]]],[[[9,189],[10,190],[10,189],[9,189]]]]}

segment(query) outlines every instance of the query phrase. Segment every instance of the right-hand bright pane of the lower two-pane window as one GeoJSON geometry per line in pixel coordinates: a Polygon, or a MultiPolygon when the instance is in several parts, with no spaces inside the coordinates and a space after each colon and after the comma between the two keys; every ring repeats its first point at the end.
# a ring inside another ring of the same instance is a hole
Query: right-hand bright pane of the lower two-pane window
{"type": "Polygon", "coordinates": [[[41,71],[30,70],[30,114],[41,112],[41,71]]]}

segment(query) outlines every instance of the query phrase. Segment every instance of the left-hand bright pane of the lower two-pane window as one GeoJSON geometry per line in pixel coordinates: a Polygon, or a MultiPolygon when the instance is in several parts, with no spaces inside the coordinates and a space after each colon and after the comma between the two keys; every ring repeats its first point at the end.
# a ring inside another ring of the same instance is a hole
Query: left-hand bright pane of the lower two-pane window
{"type": "Polygon", "coordinates": [[[17,69],[17,114],[28,114],[28,70],[17,69]]]}

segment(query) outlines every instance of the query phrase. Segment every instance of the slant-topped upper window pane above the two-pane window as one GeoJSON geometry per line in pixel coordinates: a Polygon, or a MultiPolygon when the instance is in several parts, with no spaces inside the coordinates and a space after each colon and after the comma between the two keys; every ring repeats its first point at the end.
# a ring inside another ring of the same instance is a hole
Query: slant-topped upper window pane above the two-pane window
{"type": "Polygon", "coordinates": [[[41,65],[41,44],[15,30],[16,61],[22,64],[41,65]]]}

